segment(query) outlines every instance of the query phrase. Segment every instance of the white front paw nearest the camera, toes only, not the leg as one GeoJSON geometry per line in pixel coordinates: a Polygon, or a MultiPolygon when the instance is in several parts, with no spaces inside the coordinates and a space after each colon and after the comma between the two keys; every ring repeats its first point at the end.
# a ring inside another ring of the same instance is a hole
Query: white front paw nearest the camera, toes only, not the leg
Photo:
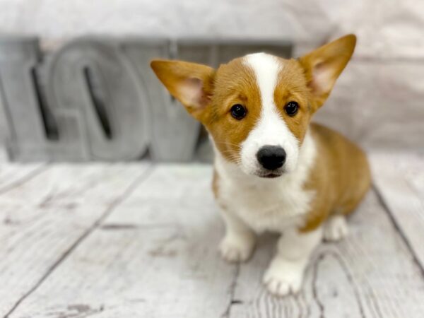
{"type": "Polygon", "coordinates": [[[274,259],[264,275],[269,293],[276,296],[296,294],[302,286],[305,261],[274,259]]]}

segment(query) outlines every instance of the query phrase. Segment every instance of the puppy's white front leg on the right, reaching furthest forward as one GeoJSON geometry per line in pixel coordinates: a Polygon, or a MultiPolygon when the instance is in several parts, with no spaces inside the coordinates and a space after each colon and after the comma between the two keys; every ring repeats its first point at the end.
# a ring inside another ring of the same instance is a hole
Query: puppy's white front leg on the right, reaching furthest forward
{"type": "Polygon", "coordinates": [[[310,254],[322,240],[322,228],[311,232],[288,230],[278,240],[277,254],[264,275],[264,283],[273,295],[298,293],[310,254]]]}

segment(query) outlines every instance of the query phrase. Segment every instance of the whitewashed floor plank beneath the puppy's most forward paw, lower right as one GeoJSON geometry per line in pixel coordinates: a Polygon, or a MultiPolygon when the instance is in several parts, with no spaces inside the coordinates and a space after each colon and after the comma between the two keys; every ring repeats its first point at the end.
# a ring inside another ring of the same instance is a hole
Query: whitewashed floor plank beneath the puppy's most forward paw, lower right
{"type": "Polygon", "coordinates": [[[346,240],[317,249],[296,297],[264,290],[275,239],[261,240],[254,259],[240,266],[229,317],[423,317],[423,276],[375,193],[349,225],[346,240]]]}

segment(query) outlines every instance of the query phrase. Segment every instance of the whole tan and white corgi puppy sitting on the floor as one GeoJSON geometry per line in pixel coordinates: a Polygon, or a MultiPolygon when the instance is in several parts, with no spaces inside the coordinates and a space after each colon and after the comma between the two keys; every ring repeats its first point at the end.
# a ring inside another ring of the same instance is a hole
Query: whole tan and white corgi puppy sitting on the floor
{"type": "Polygon", "coordinates": [[[311,123],[355,48],[346,35],[299,59],[257,53],[218,69],[155,60],[156,75],[211,136],[213,192],[225,222],[220,254],[252,255],[257,233],[281,233],[264,274],[274,295],[298,293],[319,242],[346,236],[370,187],[363,151],[311,123]]]}

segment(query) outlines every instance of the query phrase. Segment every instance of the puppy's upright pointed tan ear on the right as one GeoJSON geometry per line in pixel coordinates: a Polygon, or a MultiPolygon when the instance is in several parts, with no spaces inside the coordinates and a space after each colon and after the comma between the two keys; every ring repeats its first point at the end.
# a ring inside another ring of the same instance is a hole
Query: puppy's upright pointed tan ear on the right
{"type": "Polygon", "coordinates": [[[355,49],[355,35],[346,35],[330,42],[299,59],[308,86],[314,96],[316,109],[324,104],[341,71],[348,64],[355,49]]]}

